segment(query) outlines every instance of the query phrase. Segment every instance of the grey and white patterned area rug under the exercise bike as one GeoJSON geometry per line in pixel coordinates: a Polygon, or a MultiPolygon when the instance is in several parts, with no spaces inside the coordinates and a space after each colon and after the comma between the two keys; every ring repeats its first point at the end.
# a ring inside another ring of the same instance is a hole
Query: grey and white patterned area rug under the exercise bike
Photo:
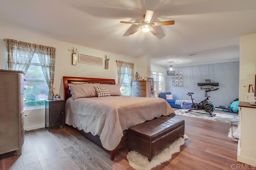
{"type": "Polygon", "coordinates": [[[224,123],[231,123],[232,121],[238,121],[238,114],[225,114],[225,113],[216,113],[216,116],[211,117],[210,114],[203,114],[206,113],[203,110],[196,110],[196,112],[200,113],[195,113],[195,112],[188,112],[188,109],[178,109],[174,111],[177,115],[184,115],[184,116],[189,116],[189,117],[196,117],[200,119],[207,119],[207,120],[212,120],[212,121],[220,121],[224,123]]]}

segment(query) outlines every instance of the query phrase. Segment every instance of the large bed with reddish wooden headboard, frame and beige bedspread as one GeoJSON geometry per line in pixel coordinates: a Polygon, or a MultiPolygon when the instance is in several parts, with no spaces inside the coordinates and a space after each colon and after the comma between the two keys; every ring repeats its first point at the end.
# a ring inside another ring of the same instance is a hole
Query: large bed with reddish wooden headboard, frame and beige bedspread
{"type": "MultiPolygon", "coordinates": [[[[63,77],[65,90],[65,123],[79,130],[100,147],[110,152],[127,145],[127,129],[162,115],[175,115],[166,100],[132,96],[76,98],[70,86],[114,86],[114,79],[63,77]],[[98,83],[98,84],[96,84],[98,83]],[[69,85],[68,85],[69,84],[69,85]],[[72,85],[71,85],[72,84],[72,85]],[[73,95],[73,96],[72,96],[73,95]]],[[[120,91],[120,90],[119,90],[120,91]]]]}

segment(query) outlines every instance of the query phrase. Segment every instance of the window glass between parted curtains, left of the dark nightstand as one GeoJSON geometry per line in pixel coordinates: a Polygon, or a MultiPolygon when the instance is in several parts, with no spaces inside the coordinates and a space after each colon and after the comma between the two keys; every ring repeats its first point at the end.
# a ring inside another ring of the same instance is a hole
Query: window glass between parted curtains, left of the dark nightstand
{"type": "Polygon", "coordinates": [[[44,100],[48,99],[49,88],[36,52],[24,79],[24,107],[45,106],[44,100]]]}

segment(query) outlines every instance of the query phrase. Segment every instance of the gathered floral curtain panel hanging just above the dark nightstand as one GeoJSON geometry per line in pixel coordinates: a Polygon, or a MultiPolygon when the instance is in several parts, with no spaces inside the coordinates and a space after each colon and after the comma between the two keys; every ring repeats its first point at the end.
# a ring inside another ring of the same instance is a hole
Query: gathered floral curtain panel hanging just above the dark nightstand
{"type": "Polygon", "coordinates": [[[37,45],[36,51],[38,52],[38,58],[42,66],[44,77],[49,87],[48,100],[52,100],[54,96],[54,73],[55,73],[55,57],[56,48],[47,47],[44,45],[37,45]]]}

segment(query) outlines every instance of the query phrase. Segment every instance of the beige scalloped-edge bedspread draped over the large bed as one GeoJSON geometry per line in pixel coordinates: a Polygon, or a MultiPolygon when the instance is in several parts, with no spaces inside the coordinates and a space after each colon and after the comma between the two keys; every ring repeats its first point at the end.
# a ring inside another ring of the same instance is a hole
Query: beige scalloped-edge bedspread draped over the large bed
{"type": "Polygon", "coordinates": [[[66,101],[66,123],[99,135],[102,146],[114,150],[123,131],[161,115],[174,113],[162,98],[110,96],[66,101]]]}

